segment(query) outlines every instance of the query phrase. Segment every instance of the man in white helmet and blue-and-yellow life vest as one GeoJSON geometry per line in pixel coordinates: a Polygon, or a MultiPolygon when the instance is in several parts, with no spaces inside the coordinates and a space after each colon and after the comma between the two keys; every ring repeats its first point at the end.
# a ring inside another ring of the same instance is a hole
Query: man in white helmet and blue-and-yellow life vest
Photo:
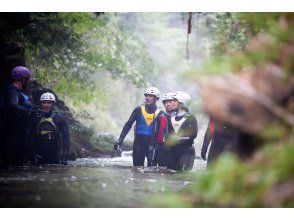
{"type": "Polygon", "coordinates": [[[120,148],[133,123],[136,122],[133,143],[133,165],[144,166],[146,157],[147,166],[156,166],[158,163],[158,144],[164,142],[166,116],[156,106],[156,101],[160,98],[160,91],[157,88],[147,88],[144,96],[145,104],[133,110],[118,140],[114,144],[114,149],[120,148]]]}

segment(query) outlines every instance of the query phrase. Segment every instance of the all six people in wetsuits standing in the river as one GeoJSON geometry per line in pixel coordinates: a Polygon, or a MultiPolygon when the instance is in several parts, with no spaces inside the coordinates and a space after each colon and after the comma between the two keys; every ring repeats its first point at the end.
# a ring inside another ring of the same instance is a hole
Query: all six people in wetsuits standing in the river
{"type": "MultiPolygon", "coordinates": [[[[26,93],[31,72],[24,66],[11,71],[11,82],[4,98],[2,162],[10,165],[67,164],[70,145],[69,128],[65,118],[54,110],[57,98],[44,91],[35,103],[26,93]]],[[[114,149],[121,149],[134,122],[133,165],[162,166],[173,170],[191,170],[194,164],[194,139],[197,137],[196,117],[189,112],[191,97],[177,91],[163,95],[165,111],[156,103],[160,91],[155,87],[144,92],[145,103],[136,107],[125,123],[114,149]]],[[[2,114],[2,113],[1,113],[2,114]]],[[[232,143],[226,127],[210,119],[201,157],[208,163],[217,157],[225,145],[232,143]],[[211,153],[212,152],[212,153],[211,153]]]]}

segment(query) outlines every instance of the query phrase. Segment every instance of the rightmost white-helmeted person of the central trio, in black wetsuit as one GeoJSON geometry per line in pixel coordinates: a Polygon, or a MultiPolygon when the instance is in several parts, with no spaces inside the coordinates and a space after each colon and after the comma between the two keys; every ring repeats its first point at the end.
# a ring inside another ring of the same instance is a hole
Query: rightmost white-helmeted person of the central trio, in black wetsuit
{"type": "Polygon", "coordinates": [[[165,143],[167,168],[183,171],[191,170],[194,164],[194,139],[197,137],[198,126],[194,115],[189,113],[191,101],[189,94],[175,92],[173,95],[176,114],[168,123],[168,135],[165,143]]]}

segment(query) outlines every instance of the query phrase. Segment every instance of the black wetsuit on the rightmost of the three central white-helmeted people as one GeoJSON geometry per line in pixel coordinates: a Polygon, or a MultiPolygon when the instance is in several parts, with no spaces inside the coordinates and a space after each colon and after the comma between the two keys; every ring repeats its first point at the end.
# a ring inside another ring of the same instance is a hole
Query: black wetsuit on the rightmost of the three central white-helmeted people
{"type": "Polygon", "coordinates": [[[168,169],[191,170],[194,164],[195,149],[194,139],[197,137],[198,125],[194,115],[174,116],[175,121],[180,121],[186,117],[179,131],[176,133],[170,120],[169,133],[165,144],[166,156],[163,163],[168,169]]]}

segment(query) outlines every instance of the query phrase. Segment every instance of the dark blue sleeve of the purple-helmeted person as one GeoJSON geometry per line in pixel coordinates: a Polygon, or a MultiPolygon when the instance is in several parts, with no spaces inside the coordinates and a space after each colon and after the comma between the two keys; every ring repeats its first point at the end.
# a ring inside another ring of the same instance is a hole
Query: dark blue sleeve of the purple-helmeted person
{"type": "Polygon", "coordinates": [[[7,91],[7,107],[8,111],[21,117],[28,117],[30,112],[19,104],[18,92],[15,90],[7,91]]]}

